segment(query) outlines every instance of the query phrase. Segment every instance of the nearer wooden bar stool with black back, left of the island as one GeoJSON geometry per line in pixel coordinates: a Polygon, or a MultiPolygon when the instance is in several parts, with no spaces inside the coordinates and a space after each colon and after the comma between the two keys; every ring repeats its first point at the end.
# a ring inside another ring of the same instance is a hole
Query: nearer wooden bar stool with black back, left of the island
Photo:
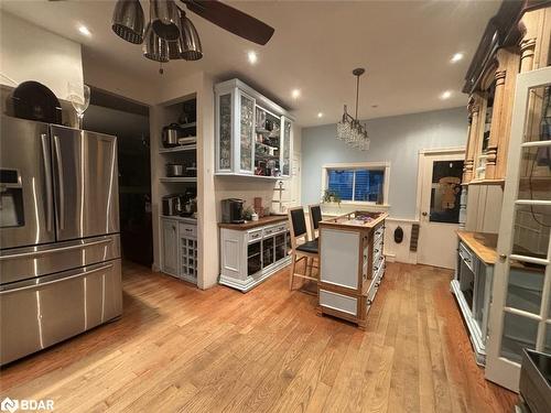
{"type": "Polygon", "coordinates": [[[317,281],[317,276],[312,276],[314,260],[320,254],[317,251],[317,239],[309,240],[306,219],[304,209],[300,207],[289,209],[289,229],[291,232],[291,276],[289,279],[289,290],[293,290],[294,278],[301,278],[311,281],[317,281]],[[296,263],[306,260],[305,274],[295,272],[296,263]]]}

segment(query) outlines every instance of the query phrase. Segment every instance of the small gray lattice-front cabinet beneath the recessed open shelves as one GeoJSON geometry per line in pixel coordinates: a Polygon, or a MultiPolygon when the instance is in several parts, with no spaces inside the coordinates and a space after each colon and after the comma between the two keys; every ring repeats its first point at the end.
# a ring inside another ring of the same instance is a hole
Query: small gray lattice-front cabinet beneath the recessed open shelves
{"type": "Polygon", "coordinates": [[[161,218],[162,272],[197,283],[197,225],[190,218],[161,218]]]}

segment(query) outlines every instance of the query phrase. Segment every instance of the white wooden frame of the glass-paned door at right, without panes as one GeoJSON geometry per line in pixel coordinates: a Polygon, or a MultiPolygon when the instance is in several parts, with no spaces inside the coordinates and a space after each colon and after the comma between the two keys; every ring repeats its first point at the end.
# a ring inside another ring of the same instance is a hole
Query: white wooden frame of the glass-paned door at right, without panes
{"type": "MultiPolygon", "coordinates": [[[[534,87],[549,85],[551,80],[551,67],[544,67],[517,75],[515,100],[512,107],[511,131],[509,135],[509,146],[507,156],[507,176],[505,180],[504,205],[501,209],[501,219],[499,225],[499,235],[497,243],[497,253],[499,259],[494,268],[494,285],[491,290],[491,304],[489,313],[489,332],[486,357],[485,377],[487,380],[498,383],[507,389],[518,391],[520,379],[520,365],[500,356],[504,318],[506,313],[506,301],[509,282],[509,262],[512,252],[515,235],[515,206],[518,200],[518,183],[520,178],[520,162],[522,156],[522,143],[525,135],[525,126],[528,119],[528,105],[530,102],[530,90],[534,87]]],[[[541,141],[544,142],[544,141],[541,141]]],[[[518,257],[518,256],[517,256],[518,257]]],[[[518,259],[515,257],[514,259],[518,259]]],[[[526,257],[526,256],[525,256],[526,257]]],[[[551,302],[551,242],[548,246],[547,259],[538,259],[539,263],[545,267],[542,295],[540,303],[540,314],[532,315],[520,314],[526,318],[537,319],[539,329],[537,335],[538,343],[544,340],[543,334],[551,324],[547,323],[550,317],[548,308],[551,302]],[[541,330],[541,325],[547,324],[541,330]]],[[[530,261],[527,261],[530,262],[530,261]]],[[[516,309],[516,308],[512,308],[516,309]]],[[[517,312],[522,312],[516,309],[517,312]]],[[[522,312],[525,313],[525,312],[522,312]]],[[[544,344],[543,344],[544,345],[544,344]]]]}

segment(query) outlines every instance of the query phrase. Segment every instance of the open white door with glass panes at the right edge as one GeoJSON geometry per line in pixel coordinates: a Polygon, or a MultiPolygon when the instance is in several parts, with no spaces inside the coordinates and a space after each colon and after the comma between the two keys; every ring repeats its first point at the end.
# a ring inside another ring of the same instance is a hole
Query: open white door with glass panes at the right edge
{"type": "Polygon", "coordinates": [[[551,67],[517,76],[486,378],[518,390],[522,349],[551,352],[551,67]]]}

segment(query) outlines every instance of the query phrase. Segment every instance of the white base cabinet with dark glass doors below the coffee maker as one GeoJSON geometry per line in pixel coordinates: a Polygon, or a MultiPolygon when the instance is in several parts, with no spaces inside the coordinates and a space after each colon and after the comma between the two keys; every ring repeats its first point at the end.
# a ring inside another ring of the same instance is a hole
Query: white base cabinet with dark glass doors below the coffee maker
{"type": "Polygon", "coordinates": [[[290,262],[287,220],[220,228],[220,284],[247,292],[290,262]]]}

